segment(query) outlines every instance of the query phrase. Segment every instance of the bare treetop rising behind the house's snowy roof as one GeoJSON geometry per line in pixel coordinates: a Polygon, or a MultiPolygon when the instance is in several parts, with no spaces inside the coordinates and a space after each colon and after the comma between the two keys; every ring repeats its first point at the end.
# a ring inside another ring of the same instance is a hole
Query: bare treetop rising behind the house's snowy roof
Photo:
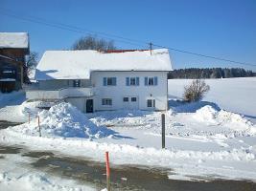
{"type": "Polygon", "coordinates": [[[72,50],[96,50],[96,51],[108,51],[116,50],[114,41],[107,41],[104,38],[98,38],[97,36],[84,36],[77,40],[72,46],[72,50]]]}

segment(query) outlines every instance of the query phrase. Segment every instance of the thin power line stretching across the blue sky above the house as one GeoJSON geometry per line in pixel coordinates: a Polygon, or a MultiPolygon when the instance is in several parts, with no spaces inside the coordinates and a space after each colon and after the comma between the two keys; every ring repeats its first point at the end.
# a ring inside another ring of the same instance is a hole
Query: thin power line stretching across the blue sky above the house
{"type": "Polygon", "coordinates": [[[206,57],[206,58],[211,58],[211,59],[215,59],[215,60],[221,60],[221,61],[236,63],[236,64],[240,64],[240,65],[255,66],[256,67],[256,64],[230,60],[230,59],[217,57],[217,56],[212,56],[212,55],[207,55],[207,54],[202,54],[202,53],[192,53],[192,52],[188,52],[188,51],[185,51],[185,50],[180,50],[180,49],[175,49],[175,48],[172,48],[172,47],[161,46],[161,45],[157,45],[157,44],[154,44],[154,43],[148,43],[148,42],[145,42],[145,41],[142,41],[142,40],[136,40],[136,39],[123,37],[123,36],[120,36],[120,35],[110,34],[110,33],[106,33],[106,32],[94,32],[94,31],[91,31],[91,30],[82,29],[82,28],[72,26],[72,25],[57,23],[57,22],[53,22],[53,21],[49,22],[49,21],[46,21],[46,20],[38,18],[38,17],[18,15],[16,13],[13,13],[13,11],[10,11],[10,10],[7,10],[7,9],[0,8],[0,12],[4,15],[11,16],[11,17],[19,19],[19,20],[24,20],[24,21],[33,22],[33,23],[36,23],[36,24],[46,25],[48,27],[54,27],[54,28],[58,28],[58,29],[61,29],[61,30],[66,30],[66,31],[69,31],[69,32],[87,33],[87,34],[90,34],[90,35],[92,35],[92,34],[98,34],[99,35],[100,34],[100,36],[105,36],[105,38],[107,38],[108,40],[113,40],[114,39],[118,42],[126,43],[126,44],[129,44],[129,45],[140,46],[140,47],[141,46],[145,47],[146,45],[150,45],[150,47],[155,46],[155,47],[159,47],[159,48],[169,49],[171,51],[175,51],[175,52],[178,52],[178,53],[188,53],[188,54],[193,54],[193,55],[206,57]],[[110,36],[110,38],[108,36],[110,36]]]}

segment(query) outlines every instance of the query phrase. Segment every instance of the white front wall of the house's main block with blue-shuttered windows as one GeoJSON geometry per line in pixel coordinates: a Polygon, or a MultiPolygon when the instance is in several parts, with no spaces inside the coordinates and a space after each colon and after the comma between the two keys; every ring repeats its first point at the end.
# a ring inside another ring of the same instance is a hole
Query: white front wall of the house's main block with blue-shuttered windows
{"type": "MultiPolygon", "coordinates": [[[[93,72],[94,110],[117,110],[127,107],[124,96],[136,96],[140,110],[167,110],[167,72],[93,72]],[[145,86],[145,76],[157,76],[156,86],[145,86]],[[104,77],[117,77],[116,86],[104,86],[104,77]],[[127,86],[126,77],[139,77],[139,86],[127,86]],[[111,98],[112,106],[102,105],[102,98],[111,98]],[[155,108],[147,107],[147,99],[155,99],[155,108]]],[[[134,106],[135,107],[135,106],[134,106]]]]}

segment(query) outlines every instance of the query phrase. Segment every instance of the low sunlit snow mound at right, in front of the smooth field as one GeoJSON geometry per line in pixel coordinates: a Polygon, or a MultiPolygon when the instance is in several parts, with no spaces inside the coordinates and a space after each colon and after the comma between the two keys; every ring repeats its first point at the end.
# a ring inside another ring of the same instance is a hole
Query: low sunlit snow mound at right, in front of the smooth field
{"type": "Polygon", "coordinates": [[[219,112],[209,105],[198,109],[194,118],[208,125],[221,125],[235,131],[247,131],[252,135],[256,133],[256,127],[241,115],[224,110],[219,112]]]}

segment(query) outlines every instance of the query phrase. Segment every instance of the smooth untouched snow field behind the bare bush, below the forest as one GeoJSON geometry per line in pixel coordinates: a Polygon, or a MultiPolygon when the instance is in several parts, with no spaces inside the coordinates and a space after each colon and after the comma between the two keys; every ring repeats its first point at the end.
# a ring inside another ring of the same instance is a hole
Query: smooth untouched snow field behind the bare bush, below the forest
{"type": "MultiPolygon", "coordinates": [[[[182,97],[184,86],[192,79],[169,79],[170,97],[182,97]]],[[[217,103],[222,109],[250,117],[256,123],[256,77],[205,79],[210,92],[203,100],[217,103]]]]}

